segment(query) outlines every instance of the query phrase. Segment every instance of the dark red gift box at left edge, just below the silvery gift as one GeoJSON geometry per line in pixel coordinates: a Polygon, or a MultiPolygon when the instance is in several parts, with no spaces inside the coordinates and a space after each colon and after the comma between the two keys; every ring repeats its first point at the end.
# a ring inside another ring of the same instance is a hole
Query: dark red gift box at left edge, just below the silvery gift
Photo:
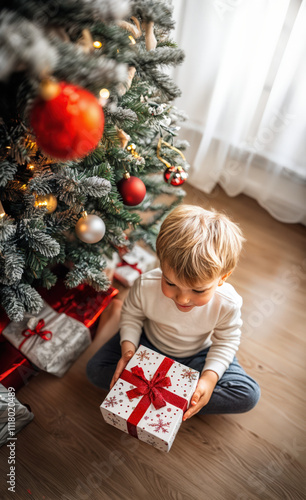
{"type": "Polygon", "coordinates": [[[0,335],[0,382],[4,387],[14,387],[15,391],[27,384],[38,371],[8,340],[0,335]]]}

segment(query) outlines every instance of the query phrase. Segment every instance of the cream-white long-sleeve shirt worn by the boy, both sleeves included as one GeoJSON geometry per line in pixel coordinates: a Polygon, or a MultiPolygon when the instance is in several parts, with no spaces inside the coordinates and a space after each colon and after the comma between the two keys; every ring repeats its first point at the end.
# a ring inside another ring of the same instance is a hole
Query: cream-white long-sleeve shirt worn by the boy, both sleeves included
{"type": "Polygon", "coordinates": [[[137,348],[143,327],[166,356],[189,357],[209,347],[202,373],[213,370],[220,379],[240,344],[242,298],[223,283],[207,304],[182,312],[162,293],[161,278],[161,269],[153,269],[130,289],[121,313],[120,344],[129,340],[137,348]]]}

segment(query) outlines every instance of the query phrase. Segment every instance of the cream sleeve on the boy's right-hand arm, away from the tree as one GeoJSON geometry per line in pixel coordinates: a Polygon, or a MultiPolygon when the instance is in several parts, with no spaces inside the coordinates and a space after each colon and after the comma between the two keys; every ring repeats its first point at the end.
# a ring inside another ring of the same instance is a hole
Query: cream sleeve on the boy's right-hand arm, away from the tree
{"type": "Polygon", "coordinates": [[[212,370],[220,379],[233,361],[240,344],[241,305],[242,300],[237,305],[233,304],[233,307],[217,323],[211,336],[212,345],[207,353],[202,375],[206,370],[212,370]]]}

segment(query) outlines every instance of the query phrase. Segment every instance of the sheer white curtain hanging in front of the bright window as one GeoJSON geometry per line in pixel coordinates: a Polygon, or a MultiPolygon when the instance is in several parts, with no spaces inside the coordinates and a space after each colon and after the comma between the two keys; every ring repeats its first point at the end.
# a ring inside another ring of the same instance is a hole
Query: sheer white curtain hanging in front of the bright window
{"type": "Polygon", "coordinates": [[[306,0],[174,0],[189,182],[306,223],[306,0]]]}

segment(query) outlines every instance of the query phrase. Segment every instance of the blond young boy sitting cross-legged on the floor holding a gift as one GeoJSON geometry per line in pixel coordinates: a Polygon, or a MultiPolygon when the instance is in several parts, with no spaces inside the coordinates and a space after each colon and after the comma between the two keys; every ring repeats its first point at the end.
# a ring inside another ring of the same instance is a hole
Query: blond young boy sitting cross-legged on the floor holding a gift
{"type": "Polygon", "coordinates": [[[225,283],[244,238],[225,215],[180,205],[157,238],[160,268],[141,275],[124,302],[120,331],[88,362],[89,380],[111,389],[139,344],[200,372],[183,420],[251,410],[260,388],[235,356],[242,299],[225,283]]]}

